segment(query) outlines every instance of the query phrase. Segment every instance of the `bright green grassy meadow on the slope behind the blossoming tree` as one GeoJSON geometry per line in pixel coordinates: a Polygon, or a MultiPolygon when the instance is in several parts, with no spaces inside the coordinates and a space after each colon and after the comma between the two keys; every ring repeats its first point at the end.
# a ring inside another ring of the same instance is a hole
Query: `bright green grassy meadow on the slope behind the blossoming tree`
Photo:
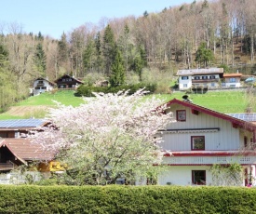
{"type": "MultiPolygon", "coordinates": [[[[73,90],[65,90],[32,96],[11,106],[6,113],[0,114],[0,119],[43,118],[47,115],[48,108],[57,106],[55,101],[64,105],[78,106],[84,100],[81,97],[75,97],[74,92],[73,90]]],[[[158,94],[155,96],[162,99],[163,102],[167,102],[174,98],[182,100],[184,94],[184,92],[174,92],[172,94],[158,94]]],[[[153,95],[146,96],[146,98],[150,99],[151,96],[153,95]]],[[[189,99],[195,104],[224,114],[244,113],[250,102],[251,106],[253,106],[253,111],[256,112],[256,105],[253,105],[251,95],[241,90],[209,91],[205,94],[190,94],[189,99]]]]}

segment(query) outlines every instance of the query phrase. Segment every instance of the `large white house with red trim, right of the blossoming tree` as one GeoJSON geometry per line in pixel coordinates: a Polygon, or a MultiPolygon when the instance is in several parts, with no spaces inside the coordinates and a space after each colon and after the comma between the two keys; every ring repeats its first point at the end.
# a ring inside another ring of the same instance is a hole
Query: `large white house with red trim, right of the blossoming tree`
{"type": "Polygon", "coordinates": [[[168,171],[159,177],[159,184],[213,185],[210,167],[232,163],[244,170],[238,185],[254,181],[256,114],[222,114],[176,99],[168,102],[168,111],[177,122],[161,130],[161,146],[172,155],[164,157],[168,171]]]}

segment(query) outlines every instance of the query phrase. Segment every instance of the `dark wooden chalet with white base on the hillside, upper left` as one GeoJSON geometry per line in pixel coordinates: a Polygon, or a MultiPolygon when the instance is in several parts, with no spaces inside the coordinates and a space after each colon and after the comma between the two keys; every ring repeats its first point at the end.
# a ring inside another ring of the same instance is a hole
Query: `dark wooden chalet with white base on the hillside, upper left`
{"type": "Polygon", "coordinates": [[[74,76],[64,74],[59,79],[54,81],[59,89],[75,90],[79,85],[84,84],[82,81],[74,78],[74,76]]]}

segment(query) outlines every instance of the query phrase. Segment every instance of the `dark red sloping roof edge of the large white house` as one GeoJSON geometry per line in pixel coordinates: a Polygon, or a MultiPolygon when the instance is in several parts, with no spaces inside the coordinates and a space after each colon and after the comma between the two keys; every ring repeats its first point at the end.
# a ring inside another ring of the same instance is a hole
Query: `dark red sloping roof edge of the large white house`
{"type": "Polygon", "coordinates": [[[232,123],[233,127],[244,127],[245,129],[248,129],[248,130],[256,130],[256,125],[254,123],[249,122],[248,120],[236,118],[235,116],[229,115],[229,114],[222,114],[214,110],[205,108],[203,106],[196,105],[189,101],[173,99],[168,101],[166,104],[167,106],[170,106],[172,104],[179,104],[184,107],[191,108],[194,112],[196,111],[198,113],[209,114],[211,116],[221,118],[222,120],[229,121],[232,123]]]}

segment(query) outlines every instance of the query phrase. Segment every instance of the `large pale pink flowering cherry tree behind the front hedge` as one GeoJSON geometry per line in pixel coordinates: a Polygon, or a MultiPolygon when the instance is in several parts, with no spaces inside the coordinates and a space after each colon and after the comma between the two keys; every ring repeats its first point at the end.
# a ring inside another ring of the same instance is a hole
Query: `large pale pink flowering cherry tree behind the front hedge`
{"type": "Polygon", "coordinates": [[[79,107],[60,105],[49,112],[53,126],[36,133],[34,142],[53,151],[78,184],[145,177],[161,164],[157,130],[172,122],[172,114],[163,114],[163,100],[144,94],[99,93],[79,107]]]}

